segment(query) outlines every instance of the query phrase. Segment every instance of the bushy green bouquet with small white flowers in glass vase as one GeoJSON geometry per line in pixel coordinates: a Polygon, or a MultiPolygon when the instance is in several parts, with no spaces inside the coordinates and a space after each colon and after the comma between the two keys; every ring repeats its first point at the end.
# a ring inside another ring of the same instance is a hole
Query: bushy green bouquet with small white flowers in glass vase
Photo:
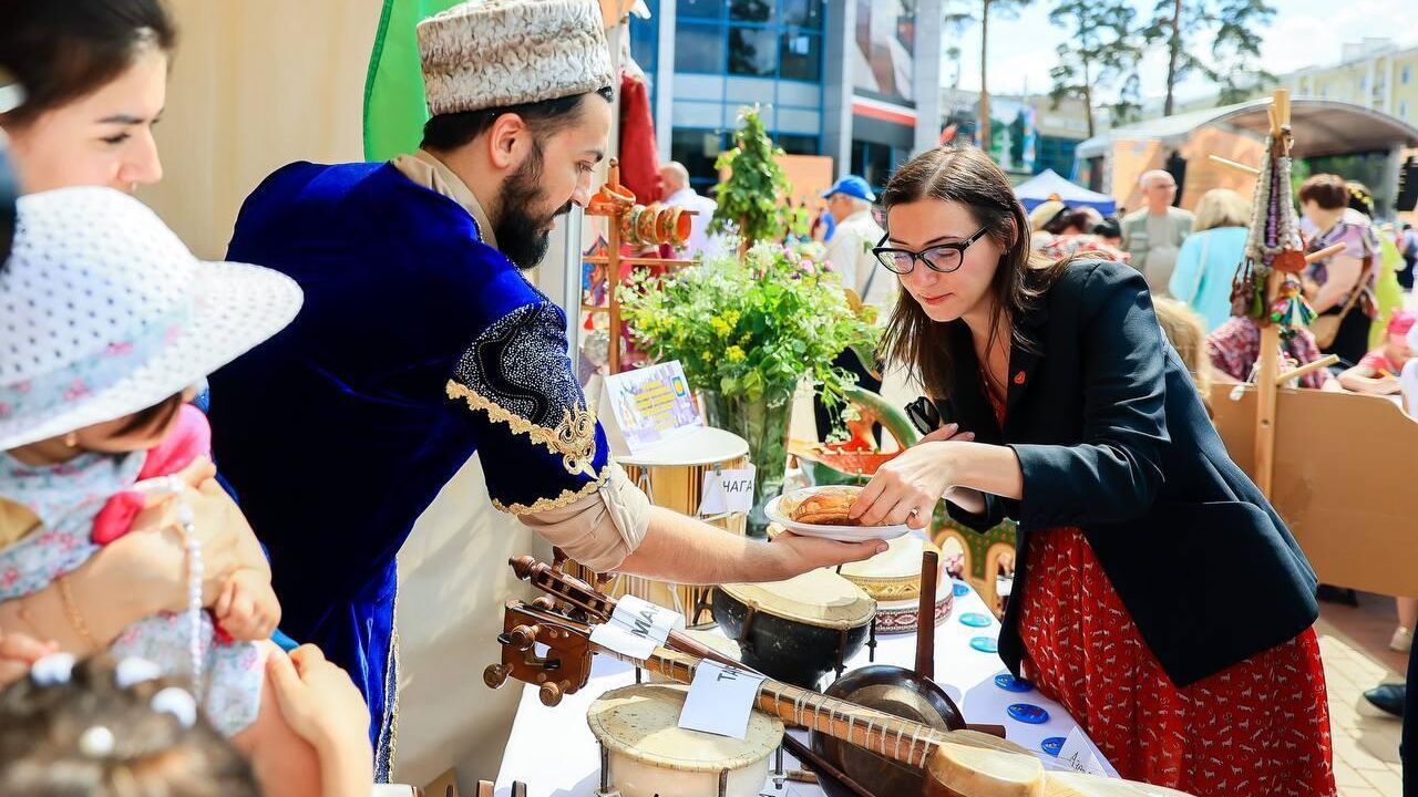
{"type": "Polygon", "coordinates": [[[869,316],[848,305],[841,278],[822,268],[820,244],[764,241],[743,258],[635,275],[621,312],[645,350],[679,360],[696,389],[774,404],[803,380],[838,403],[855,377],[832,360],[847,347],[871,352],[878,339],[869,316]]]}

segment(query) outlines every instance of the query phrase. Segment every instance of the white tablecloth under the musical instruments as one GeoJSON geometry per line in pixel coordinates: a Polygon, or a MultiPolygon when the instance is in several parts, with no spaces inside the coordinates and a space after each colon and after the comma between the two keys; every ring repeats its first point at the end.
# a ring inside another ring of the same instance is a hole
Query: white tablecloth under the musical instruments
{"type": "MultiPolygon", "coordinates": [[[[995,685],[994,676],[1008,672],[997,654],[974,650],[970,641],[976,637],[997,638],[1000,623],[986,608],[984,601],[968,586],[956,581],[956,604],[950,617],[936,627],[936,682],[960,705],[966,719],[973,723],[994,723],[1005,726],[1005,737],[1029,750],[1041,750],[1048,737],[1066,737],[1078,728],[1064,706],[1049,701],[1037,691],[1007,692],[995,685]],[[964,594],[960,594],[961,590],[964,594]],[[967,614],[990,618],[990,625],[971,628],[961,623],[967,614]],[[1042,725],[1028,725],[1012,719],[1008,706],[1032,703],[1044,708],[1049,718],[1042,725]]],[[[878,634],[876,664],[912,667],[916,659],[915,634],[878,634]]],[[[848,662],[848,669],[864,667],[868,652],[848,662]]],[[[586,725],[586,709],[601,693],[635,682],[634,668],[608,657],[596,657],[591,679],[586,688],[567,695],[556,708],[543,706],[536,689],[523,688],[522,703],[512,725],[502,767],[498,770],[496,796],[510,794],[512,781],[527,784],[527,797],[594,797],[600,787],[600,747],[586,725]]],[[[805,740],[805,733],[800,739],[805,740]]],[[[1092,742],[1089,742],[1092,747],[1092,742]]],[[[1048,753],[1038,753],[1046,764],[1055,764],[1048,753]]],[[[1116,770],[1093,747],[1093,754],[1103,767],[1116,777],[1116,770]]],[[[784,756],[786,769],[797,769],[791,756],[784,756]]],[[[773,797],[821,797],[817,786],[786,783],[774,787],[770,780],[764,796],[773,797]]]]}

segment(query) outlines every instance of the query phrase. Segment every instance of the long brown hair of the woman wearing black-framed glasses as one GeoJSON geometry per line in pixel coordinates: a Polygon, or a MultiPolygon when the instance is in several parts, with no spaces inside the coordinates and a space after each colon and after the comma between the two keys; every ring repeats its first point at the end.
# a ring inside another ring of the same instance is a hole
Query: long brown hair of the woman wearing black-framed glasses
{"type": "MultiPolygon", "coordinates": [[[[986,352],[993,350],[1001,325],[1010,325],[1005,335],[1011,342],[1025,347],[1032,346],[1034,342],[1028,340],[1012,322],[1038,305],[1069,261],[1051,262],[1034,257],[1029,245],[1029,220],[1004,172],[976,147],[940,147],[926,152],[902,165],[881,196],[888,223],[893,206],[920,200],[966,206],[976,221],[987,230],[986,234],[1004,250],[1004,257],[1000,258],[990,282],[994,318],[990,319],[986,352]]],[[[932,321],[916,299],[902,292],[892,309],[879,352],[893,363],[906,363],[908,377],[919,379],[926,393],[939,398],[947,396],[951,389],[953,335],[968,335],[968,330],[963,323],[932,321]]]]}

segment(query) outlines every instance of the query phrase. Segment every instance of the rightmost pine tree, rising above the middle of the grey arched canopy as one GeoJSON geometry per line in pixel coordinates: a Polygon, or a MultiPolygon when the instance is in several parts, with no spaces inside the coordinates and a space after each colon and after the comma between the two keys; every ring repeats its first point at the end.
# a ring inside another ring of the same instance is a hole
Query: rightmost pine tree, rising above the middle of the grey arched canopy
{"type": "Polygon", "coordinates": [[[1147,44],[1166,43],[1167,101],[1170,116],[1177,84],[1191,74],[1204,75],[1219,87],[1222,104],[1238,102],[1275,75],[1256,68],[1261,58],[1261,28],[1275,18],[1266,0],[1157,0],[1153,20],[1143,30],[1147,44]],[[1211,48],[1195,47],[1211,37],[1211,48]]]}

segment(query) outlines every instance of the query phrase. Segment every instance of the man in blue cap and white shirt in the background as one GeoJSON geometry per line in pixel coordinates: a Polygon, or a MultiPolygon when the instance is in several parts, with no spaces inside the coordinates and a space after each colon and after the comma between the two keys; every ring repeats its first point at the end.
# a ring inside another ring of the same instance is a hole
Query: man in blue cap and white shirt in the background
{"type": "MultiPolygon", "coordinates": [[[[872,254],[872,247],[885,235],[872,218],[876,194],[866,180],[848,174],[822,191],[822,199],[827,200],[827,211],[835,223],[832,238],[827,241],[827,262],[842,275],[844,286],[856,292],[862,303],[875,306],[878,318],[885,319],[896,301],[896,275],[882,268],[872,254]]],[[[881,391],[881,380],[868,372],[855,352],[842,352],[835,364],[855,373],[861,387],[881,391]]],[[[821,400],[815,401],[814,414],[818,437],[827,438],[832,423],[821,400]]]]}

